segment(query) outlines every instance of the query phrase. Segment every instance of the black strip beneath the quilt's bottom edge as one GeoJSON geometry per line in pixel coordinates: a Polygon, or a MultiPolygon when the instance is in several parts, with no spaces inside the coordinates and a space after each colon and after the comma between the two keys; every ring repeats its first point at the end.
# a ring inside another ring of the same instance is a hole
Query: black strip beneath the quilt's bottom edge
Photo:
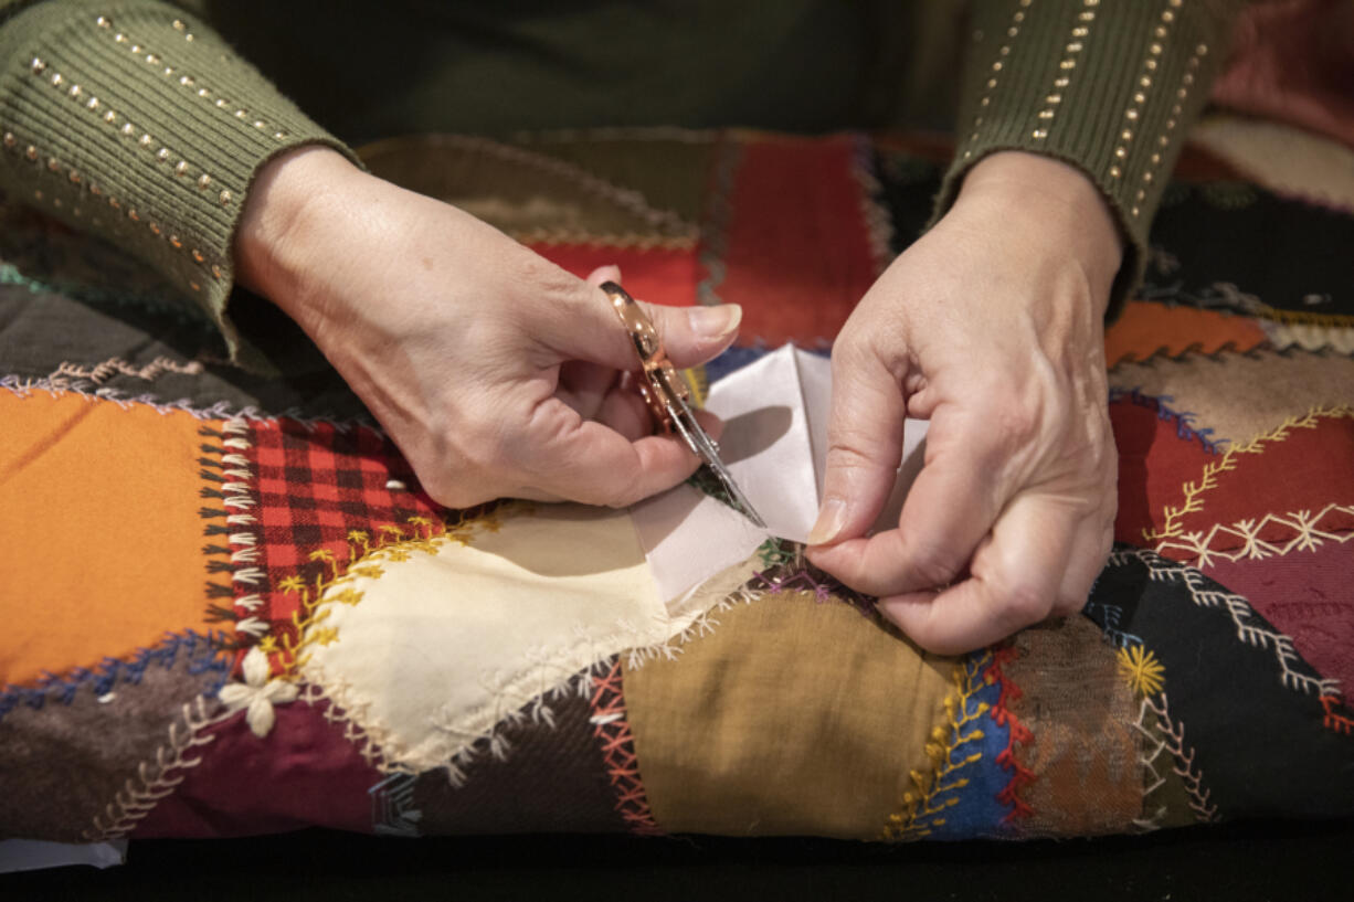
{"type": "Polygon", "coordinates": [[[0,899],[1354,899],[1350,822],[1140,837],[881,846],[827,840],[528,836],[383,840],[306,830],[133,842],[127,864],[0,878],[0,899]]]}

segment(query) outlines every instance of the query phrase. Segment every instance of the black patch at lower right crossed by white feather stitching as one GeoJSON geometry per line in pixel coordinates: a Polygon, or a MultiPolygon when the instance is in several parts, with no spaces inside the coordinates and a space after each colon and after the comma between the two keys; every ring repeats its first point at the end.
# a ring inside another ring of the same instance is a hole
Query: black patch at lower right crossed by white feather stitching
{"type": "Polygon", "coordinates": [[[1322,677],[1240,596],[1182,563],[1117,546],[1086,615],[1164,668],[1171,721],[1221,818],[1350,817],[1354,735],[1323,725],[1322,677]],[[1242,632],[1244,631],[1244,635],[1242,632]]]}

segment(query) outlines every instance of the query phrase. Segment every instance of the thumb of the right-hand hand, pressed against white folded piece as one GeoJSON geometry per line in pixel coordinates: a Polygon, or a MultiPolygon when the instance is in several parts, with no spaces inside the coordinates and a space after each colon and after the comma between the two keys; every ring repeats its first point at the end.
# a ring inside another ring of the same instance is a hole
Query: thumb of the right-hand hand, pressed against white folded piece
{"type": "Polygon", "coordinates": [[[865,535],[883,511],[903,456],[902,381],[869,351],[833,348],[823,504],[808,544],[865,535]]]}

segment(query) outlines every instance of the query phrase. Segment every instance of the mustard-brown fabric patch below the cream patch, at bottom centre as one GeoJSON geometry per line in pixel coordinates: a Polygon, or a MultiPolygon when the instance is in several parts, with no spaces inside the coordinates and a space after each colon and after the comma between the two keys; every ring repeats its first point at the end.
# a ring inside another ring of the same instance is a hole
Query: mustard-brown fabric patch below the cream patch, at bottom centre
{"type": "Polygon", "coordinates": [[[812,593],[714,616],[676,660],[626,669],[654,819],[672,833],[877,840],[926,764],[953,661],[812,593]]]}

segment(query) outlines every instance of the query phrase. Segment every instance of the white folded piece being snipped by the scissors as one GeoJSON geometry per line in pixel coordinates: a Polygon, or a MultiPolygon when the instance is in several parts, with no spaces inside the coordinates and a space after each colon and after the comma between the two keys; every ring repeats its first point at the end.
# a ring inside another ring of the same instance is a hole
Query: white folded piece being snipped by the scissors
{"type": "MultiPolygon", "coordinates": [[[[689,485],[634,505],[635,528],[662,597],[691,592],[746,559],[768,536],[808,540],[827,470],[831,393],[830,362],[788,344],[711,387],[705,409],[724,420],[720,458],[768,530],[689,485]]],[[[922,465],[926,427],[925,420],[906,421],[898,481],[876,528],[898,524],[922,465]]]]}

